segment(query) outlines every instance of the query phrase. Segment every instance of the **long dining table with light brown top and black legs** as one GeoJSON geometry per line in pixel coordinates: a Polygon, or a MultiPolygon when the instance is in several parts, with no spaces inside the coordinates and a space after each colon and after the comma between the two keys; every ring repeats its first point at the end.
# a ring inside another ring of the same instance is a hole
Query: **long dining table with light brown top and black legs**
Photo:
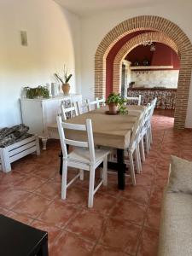
{"type": "MultiPolygon", "coordinates": [[[[67,123],[83,125],[86,119],[91,119],[95,146],[116,150],[117,160],[116,162],[108,161],[108,169],[117,171],[119,189],[125,189],[125,150],[129,147],[131,133],[137,125],[140,115],[143,114],[144,109],[144,106],[128,105],[127,114],[108,114],[108,107],[106,106],[79,114],[65,121],[67,123]]],[[[48,131],[52,138],[59,139],[56,123],[49,124],[48,131]]],[[[65,136],[73,140],[87,140],[84,131],[65,130],[65,136]]],[[[62,154],[60,173],[61,170],[62,154]]]]}

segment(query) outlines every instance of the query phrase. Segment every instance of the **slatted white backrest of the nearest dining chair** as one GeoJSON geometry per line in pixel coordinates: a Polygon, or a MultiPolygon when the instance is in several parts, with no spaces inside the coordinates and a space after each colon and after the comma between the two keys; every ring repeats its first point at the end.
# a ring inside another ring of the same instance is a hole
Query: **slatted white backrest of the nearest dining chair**
{"type": "Polygon", "coordinates": [[[85,125],[77,125],[77,124],[69,124],[63,122],[61,116],[56,117],[56,122],[59,130],[60,140],[61,140],[61,148],[63,158],[67,160],[67,145],[71,145],[73,147],[81,147],[81,148],[89,148],[90,152],[90,163],[95,161],[95,148],[94,148],[94,140],[93,140],[93,130],[92,130],[92,122],[91,119],[86,119],[85,125]],[[74,131],[86,131],[88,140],[85,142],[67,139],[65,137],[65,129],[74,130],[74,131]]]}

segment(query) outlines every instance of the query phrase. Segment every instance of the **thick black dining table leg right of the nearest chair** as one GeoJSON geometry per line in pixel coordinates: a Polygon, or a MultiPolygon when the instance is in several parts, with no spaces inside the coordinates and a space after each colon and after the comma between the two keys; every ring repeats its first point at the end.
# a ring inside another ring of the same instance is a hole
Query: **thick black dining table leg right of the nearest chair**
{"type": "Polygon", "coordinates": [[[118,189],[125,189],[125,157],[124,149],[117,149],[118,189]]]}

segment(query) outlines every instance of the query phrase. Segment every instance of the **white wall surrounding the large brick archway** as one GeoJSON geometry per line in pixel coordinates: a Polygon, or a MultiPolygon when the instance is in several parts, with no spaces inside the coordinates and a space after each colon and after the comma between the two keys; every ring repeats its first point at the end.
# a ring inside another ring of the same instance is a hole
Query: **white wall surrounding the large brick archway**
{"type": "MultiPolygon", "coordinates": [[[[82,20],[82,93],[85,97],[94,97],[94,56],[102,38],[120,22],[138,15],[158,15],[176,23],[192,42],[192,1],[175,0],[159,5],[135,9],[123,9],[103,12],[84,17],[82,20]]],[[[192,86],[192,85],[191,85],[192,86]]],[[[189,96],[189,108],[186,126],[192,127],[192,91],[189,96]]]]}

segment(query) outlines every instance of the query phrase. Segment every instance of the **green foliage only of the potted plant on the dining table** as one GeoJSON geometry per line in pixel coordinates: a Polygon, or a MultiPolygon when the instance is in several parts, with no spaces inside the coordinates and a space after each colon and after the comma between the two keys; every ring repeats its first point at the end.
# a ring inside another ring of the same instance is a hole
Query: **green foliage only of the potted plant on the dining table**
{"type": "Polygon", "coordinates": [[[106,103],[107,104],[114,103],[116,106],[118,106],[118,111],[119,111],[120,114],[127,114],[128,113],[128,110],[127,110],[126,105],[125,105],[125,103],[127,103],[127,99],[120,96],[119,93],[114,93],[114,92],[110,93],[108,98],[107,98],[106,103]]]}

